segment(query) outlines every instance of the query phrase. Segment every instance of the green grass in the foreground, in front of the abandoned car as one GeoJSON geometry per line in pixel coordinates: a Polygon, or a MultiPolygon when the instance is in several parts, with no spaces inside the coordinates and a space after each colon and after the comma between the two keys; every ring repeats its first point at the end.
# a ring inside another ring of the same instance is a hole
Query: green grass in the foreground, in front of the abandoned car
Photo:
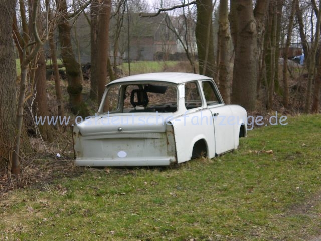
{"type": "Polygon", "coordinates": [[[84,169],[16,190],[0,203],[0,239],[311,240],[321,228],[320,127],[319,115],[290,117],[212,160],[84,169]]]}

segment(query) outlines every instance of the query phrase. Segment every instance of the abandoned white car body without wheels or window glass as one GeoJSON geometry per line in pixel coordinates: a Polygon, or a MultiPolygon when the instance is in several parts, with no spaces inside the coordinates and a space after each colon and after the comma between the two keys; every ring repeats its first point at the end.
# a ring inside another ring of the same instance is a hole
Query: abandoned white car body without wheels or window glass
{"type": "Polygon", "coordinates": [[[128,76],[106,85],[97,116],[73,128],[76,165],[162,166],[234,150],[247,113],[225,105],[213,79],[190,73],[128,76]]]}

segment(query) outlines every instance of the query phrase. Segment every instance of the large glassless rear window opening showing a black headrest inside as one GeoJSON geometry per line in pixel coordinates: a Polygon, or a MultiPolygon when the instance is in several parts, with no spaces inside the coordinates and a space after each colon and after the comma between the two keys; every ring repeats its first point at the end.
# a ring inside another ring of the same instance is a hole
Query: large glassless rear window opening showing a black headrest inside
{"type": "Polygon", "coordinates": [[[177,87],[166,82],[119,83],[108,88],[102,101],[104,113],[173,113],[177,111],[177,87]]]}

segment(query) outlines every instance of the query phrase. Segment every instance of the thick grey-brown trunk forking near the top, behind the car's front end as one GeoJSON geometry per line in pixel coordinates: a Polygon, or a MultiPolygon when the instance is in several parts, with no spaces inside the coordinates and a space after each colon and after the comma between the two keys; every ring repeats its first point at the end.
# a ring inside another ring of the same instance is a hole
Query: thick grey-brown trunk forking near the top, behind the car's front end
{"type": "Polygon", "coordinates": [[[263,30],[268,1],[258,0],[253,11],[250,0],[231,0],[232,33],[235,61],[232,84],[232,102],[248,111],[256,108],[256,85],[258,72],[258,43],[263,30]],[[255,17],[254,17],[255,14],[255,17]]]}

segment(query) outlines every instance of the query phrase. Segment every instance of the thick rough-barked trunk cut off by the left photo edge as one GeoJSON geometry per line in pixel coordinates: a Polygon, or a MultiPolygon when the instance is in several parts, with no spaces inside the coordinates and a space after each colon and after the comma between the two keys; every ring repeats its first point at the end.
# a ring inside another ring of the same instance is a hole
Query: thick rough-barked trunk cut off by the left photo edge
{"type": "Polygon", "coordinates": [[[0,2],[0,170],[7,166],[15,139],[16,61],[11,23],[16,1],[0,2]]]}

